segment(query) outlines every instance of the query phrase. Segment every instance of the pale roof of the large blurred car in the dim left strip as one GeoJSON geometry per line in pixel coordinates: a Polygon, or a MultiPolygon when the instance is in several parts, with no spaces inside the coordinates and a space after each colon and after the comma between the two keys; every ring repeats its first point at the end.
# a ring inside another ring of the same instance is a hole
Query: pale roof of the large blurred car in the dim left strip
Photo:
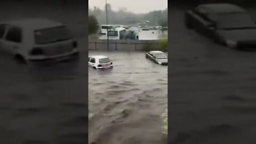
{"type": "Polygon", "coordinates": [[[56,21],[53,21],[50,19],[44,19],[44,18],[29,18],[29,19],[21,19],[21,20],[14,20],[14,21],[6,21],[1,23],[6,23],[13,26],[21,27],[23,29],[30,29],[30,30],[63,26],[63,24],[60,22],[56,22],[56,21]]]}

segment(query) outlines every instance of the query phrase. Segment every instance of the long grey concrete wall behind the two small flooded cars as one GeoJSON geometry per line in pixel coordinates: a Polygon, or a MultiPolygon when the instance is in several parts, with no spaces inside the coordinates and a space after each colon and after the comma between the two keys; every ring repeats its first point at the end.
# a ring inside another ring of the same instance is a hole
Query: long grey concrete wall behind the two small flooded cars
{"type": "MultiPolygon", "coordinates": [[[[150,50],[160,50],[158,40],[113,40],[109,39],[109,50],[141,51],[150,45],[150,50]]],[[[108,50],[107,39],[89,39],[89,50],[108,50]]]]}

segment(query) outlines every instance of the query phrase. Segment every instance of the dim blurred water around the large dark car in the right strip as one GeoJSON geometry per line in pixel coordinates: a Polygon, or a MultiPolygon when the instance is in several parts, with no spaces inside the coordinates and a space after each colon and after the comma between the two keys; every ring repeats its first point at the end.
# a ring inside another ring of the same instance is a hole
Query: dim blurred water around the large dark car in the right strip
{"type": "Polygon", "coordinates": [[[256,143],[256,52],[218,46],[170,9],[170,143],[256,143]]]}

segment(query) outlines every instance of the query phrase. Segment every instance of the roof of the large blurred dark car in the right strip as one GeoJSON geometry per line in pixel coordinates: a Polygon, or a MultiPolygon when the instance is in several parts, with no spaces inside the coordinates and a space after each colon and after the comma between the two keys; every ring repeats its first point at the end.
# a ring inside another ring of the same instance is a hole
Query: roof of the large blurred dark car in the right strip
{"type": "Polygon", "coordinates": [[[201,4],[197,6],[197,9],[204,11],[204,13],[212,14],[246,12],[242,7],[228,3],[201,4]]]}

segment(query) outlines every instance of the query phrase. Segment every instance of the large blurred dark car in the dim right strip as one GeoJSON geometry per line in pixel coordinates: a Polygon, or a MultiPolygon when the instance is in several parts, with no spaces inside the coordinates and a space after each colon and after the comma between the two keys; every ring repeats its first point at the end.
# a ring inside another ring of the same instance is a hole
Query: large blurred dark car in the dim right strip
{"type": "Polygon", "coordinates": [[[256,24],[234,4],[202,4],[185,13],[185,25],[233,49],[256,49],[256,24]]]}

